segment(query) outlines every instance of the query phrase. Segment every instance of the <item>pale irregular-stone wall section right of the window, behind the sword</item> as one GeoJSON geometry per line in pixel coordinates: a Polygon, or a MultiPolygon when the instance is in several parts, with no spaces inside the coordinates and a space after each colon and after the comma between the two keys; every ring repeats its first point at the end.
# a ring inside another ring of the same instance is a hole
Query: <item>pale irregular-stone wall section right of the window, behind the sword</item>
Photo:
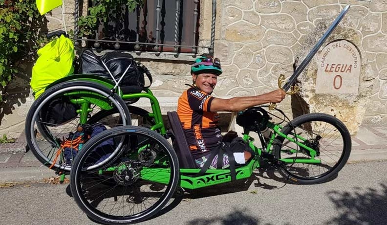
{"type": "MultiPolygon", "coordinates": [[[[227,75],[219,78],[226,88],[216,90],[215,94],[250,95],[277,89],[278,76],[292,74],[296,57],[303,59],[348,3],[351,8],[344,21],[325,44],[335,39],[356,43],[364,74],[360,93],[314,95],[317,69],[311,67],[317,68],[315,56],[301,74],[304,84],[308,79],[311,84],[304,85],[299,96],[305,104],[298,107],[305,108],[305,112],[336,115],[352,134],[362,123],[386,123],[387,2],[384,0],[222,0],[221,34],[215,54],[223,61],[227,75]],[[343,101],[347,103],[339,104],[343,101]],[[331,105],[330,110],[326,110],[327,105],[331,105]]],[[[290,100],[287,97],[280,103],[280,108],[289,115],[290,100]]]]}

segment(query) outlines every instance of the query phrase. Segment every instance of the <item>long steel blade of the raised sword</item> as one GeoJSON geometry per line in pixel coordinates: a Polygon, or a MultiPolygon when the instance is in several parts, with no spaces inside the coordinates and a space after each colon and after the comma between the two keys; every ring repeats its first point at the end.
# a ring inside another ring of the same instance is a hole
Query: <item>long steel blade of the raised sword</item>
{"type": "Polygon", "coordinates": [[[304,68],[309,64],[309,62],[312,60],[313,56],[316,54],[316,52],[320,49],[321,45],[325,42],[325,40],[329,37],[329,35],[332,33],[332,31],[336,28],[336,26],[340,23],[340,21],[343,19],[344,15],[347,13],[350,5],[345,6],[343,11],[339,14],[339,16],[336,18],[336,20],[330,25],[327,31],[325,31],[323,37],[317,42],[317,44],[313,47],[313,49],[309,52],[309,54],[305,57],[305,59],[301,62],[300,66],[297,67],[296,71],[294,71],[293,75],[289,78],[289,80],[286,82],[286,84],[282,87],[283,90],[287,91],[290,89],[292,85],[297,80],[297,77],[301,74],[301,72],[304,70],[304,68]]]}

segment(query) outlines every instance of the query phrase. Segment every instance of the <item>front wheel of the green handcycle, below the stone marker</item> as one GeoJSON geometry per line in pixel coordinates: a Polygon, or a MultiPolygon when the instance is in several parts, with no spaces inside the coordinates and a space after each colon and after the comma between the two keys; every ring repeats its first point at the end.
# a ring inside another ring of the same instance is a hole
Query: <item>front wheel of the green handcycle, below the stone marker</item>
{"type": "Polygon", "coordinates": [[[343,122],[328,114],[309,113],[290,124],[283,127],[281,133],[314,149],[316,161],[295,162],[311,159],[311,154],[295,142],[278,136],[273,152],[277,158],[286,160],[279,170],[284,178],[298,184],[321,183],[343,168],[351,152],[351,136],[343,122]]]}

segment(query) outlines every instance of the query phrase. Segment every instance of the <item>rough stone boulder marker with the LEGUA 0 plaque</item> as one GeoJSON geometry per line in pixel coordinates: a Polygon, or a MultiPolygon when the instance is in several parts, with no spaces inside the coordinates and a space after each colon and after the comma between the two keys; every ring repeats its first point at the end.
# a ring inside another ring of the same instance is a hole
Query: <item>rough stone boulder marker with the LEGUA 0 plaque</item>
{"type": "MultiPolygon", "coordinates": [[[[344,17],[328,37],[329,44],[318,51],[301,73],[298,79],[301,91],[291,96],[293,117],[310,112],[328,113],[343,121],[351,135],[356,135],[369,110],[367,104],[377,72],[363,57],[364,41],[355,22],[344,17]]],[[[299,59],[305,58],[331,23],[332,18],[326,18],[316,24],[301,43],[299,59]]]]}

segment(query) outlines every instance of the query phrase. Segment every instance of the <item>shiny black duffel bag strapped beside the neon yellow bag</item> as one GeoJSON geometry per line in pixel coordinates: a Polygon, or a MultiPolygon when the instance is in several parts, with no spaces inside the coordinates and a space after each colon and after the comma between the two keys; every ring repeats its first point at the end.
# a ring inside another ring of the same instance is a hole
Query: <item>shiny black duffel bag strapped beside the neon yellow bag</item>
{"type": "Polygon", "coordinates": [[[149,88],[152,84],[152,77],[149,70],[140,63],[137,63],[133,56],[122,52],[108,52],[102,56],[97,56],[92,50],[86,49],[80,56],[78,73],[94,74],[114,82],[102,62],[108,67],[116,82],[125,73],[119,83],[120,87],[136,86],[149,88]],[[150,80],[149,86],[145,86],[144,74],[150,80]]]}

